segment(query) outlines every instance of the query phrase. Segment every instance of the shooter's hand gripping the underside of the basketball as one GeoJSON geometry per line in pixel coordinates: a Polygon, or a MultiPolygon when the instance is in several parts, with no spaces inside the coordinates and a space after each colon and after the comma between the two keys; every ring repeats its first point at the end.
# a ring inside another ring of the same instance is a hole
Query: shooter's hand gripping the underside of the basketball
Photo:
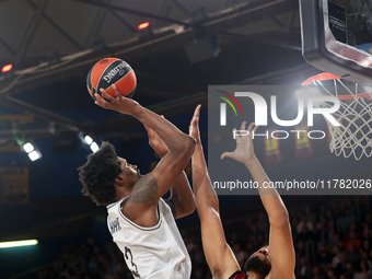
{"type": "Polygon", "coordinates": [[[129,97],[123,96],[115,84],[113,84],[112,86],[114,89],[116,97],[109,95],[106,90],[101,89],[102,96],[95,93],[94,96],[96,101],[94,103],[105,109],[113,109],[121,114],[131,115],[133,111],[139,106],[139,104],[129,97]]]}

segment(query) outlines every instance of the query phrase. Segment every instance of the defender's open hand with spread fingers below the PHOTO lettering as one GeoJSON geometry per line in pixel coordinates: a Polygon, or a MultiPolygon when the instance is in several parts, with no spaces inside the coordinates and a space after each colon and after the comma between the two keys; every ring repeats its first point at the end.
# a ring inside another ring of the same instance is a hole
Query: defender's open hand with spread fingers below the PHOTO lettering
{"type": "MultiPolygon", "coordinates": [[[[245,130],[245,125],[246,123],[243,121],[242,126],[241,126],[241,130],[245,130]]],[[[252,123],[248,128],[246,129],[246,131],[248,132],[248,135],[246,136],[237,136],[236,135],[236,148],[233,152],[224,152],[221,155],[221,159],[224,158],[231,158],[233,160],[236,160],[239,162],[242,162],[244,164],[246,164],[249,160],[255,159],[255,152],[254,152],[254,147],[253,147],[253,133],[256,132],[256,130],[258,129],[258,126],[255,127],[255,124],[252,123]]],[[[233,132],[235,135],[236,129],[233,129],[233,132]]]]}

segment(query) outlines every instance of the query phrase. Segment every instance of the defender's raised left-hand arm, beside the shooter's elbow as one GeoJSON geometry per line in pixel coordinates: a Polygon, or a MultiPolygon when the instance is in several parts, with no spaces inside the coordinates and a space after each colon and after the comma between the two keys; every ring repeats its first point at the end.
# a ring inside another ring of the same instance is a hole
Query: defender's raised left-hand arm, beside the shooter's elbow
{"type": "Polygon", "coordinates": [[[229,278],[240,270],[226,243],[219,214],[219,200],[211,185],[199,132],[200,105],[195,109],[189,135],[196,140],[193,162],[193,186],[200,219],[202,247],[214,279],[229,278]]]}

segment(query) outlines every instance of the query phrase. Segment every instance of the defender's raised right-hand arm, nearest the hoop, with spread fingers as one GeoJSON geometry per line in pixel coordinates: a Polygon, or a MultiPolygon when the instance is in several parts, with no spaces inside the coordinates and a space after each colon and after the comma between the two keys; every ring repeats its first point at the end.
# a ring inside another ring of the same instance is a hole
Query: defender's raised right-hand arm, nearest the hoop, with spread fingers
{"type": "MultiPolygon", "coordinates": [[[[242,124],[241,130],[245,130],[245,123],[242,124]]],[[[288,211],[278,191],[267,187],[270,181],[254,153],[253,133],[258,128],[254,126],[252,123],[247,128],[248,136],[237,137],[236,149],[233,152],[223,153],[221,159],[232,158],[245,164],[254,181],[258,183],[259,197],[270,222],[271,278],[293,278],[295,256],[288,211]]]]}

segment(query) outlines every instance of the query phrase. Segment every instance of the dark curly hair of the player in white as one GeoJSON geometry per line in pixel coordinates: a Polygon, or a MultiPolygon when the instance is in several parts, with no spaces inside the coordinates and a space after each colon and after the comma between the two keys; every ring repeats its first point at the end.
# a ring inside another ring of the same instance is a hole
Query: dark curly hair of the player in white
{"type": "Polygon", "coordinates": [[[115,177],[121,172],[115,148],[104,141],[98,151],[86,156],[88,161],[78,168],[83,196],[90,197],[97,206],[114,202],[115,177]]]}

